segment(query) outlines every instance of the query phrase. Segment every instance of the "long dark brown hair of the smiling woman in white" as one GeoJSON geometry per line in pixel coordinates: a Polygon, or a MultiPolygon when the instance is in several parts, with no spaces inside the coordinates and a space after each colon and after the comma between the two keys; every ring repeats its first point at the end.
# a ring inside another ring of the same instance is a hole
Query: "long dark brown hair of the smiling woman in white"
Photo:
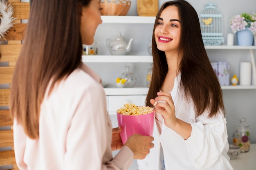
{"type": "Polygon", "coordinates": [[[197,116],[201,115],[204,110],[209,111],[209,117],[213,117],[219,111],[225,114],[222,90],[204,49],[198,15],[191,4],[185,0],[165,2],[157,13],[152,36],[153,73],[146,97],[146,106],[152,107],[150,99],[157,97],[157,92],[161,89],[168,72],[165,53],[157,49],[154,32],[160,14],[170,5],[178,8],[181,23],[180,89],[188,101],[192,99],[197,116]]]}

